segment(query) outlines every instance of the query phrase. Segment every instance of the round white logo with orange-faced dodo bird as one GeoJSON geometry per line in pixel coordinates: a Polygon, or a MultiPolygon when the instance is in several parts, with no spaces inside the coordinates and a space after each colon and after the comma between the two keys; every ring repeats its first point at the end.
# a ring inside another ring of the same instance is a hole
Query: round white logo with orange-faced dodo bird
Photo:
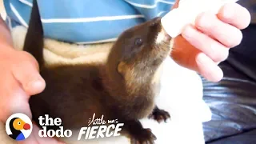
{"type": "Polygon", "coordinates": [[[30,136],[32,122],[25,114],[12,114],[6,121],[6,133],[16,141],[22,141],[30,136]]]}

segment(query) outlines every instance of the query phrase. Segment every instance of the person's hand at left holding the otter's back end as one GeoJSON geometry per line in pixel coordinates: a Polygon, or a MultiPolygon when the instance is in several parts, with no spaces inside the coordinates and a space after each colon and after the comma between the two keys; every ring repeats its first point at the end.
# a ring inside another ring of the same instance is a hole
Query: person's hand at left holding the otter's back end
{"type": "MultiPolygon", "coordinates": [[[[30,95],[41,93],[46,86],[38,73],[38,62],[24,51],[16,51],[3,43],[0,45],[0,123],[5,123],[14,113],[31,118],[30,95]]],[[[20,143],[58,143],[53,138],[38,138],[38,130],[34,125],[30,137],[20,143]]]]}

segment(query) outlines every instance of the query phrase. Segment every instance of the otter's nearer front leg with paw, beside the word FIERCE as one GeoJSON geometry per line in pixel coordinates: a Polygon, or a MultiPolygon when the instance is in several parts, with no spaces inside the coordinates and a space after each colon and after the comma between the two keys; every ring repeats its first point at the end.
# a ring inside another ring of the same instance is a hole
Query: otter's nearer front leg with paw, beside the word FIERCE
{"type": "Polygon", "coordinates": [[[138,120],[124,121],[123,134],[128,134],[131,144],[154,144],[157,138],[150,129],[144,129],[138,120]]]}

